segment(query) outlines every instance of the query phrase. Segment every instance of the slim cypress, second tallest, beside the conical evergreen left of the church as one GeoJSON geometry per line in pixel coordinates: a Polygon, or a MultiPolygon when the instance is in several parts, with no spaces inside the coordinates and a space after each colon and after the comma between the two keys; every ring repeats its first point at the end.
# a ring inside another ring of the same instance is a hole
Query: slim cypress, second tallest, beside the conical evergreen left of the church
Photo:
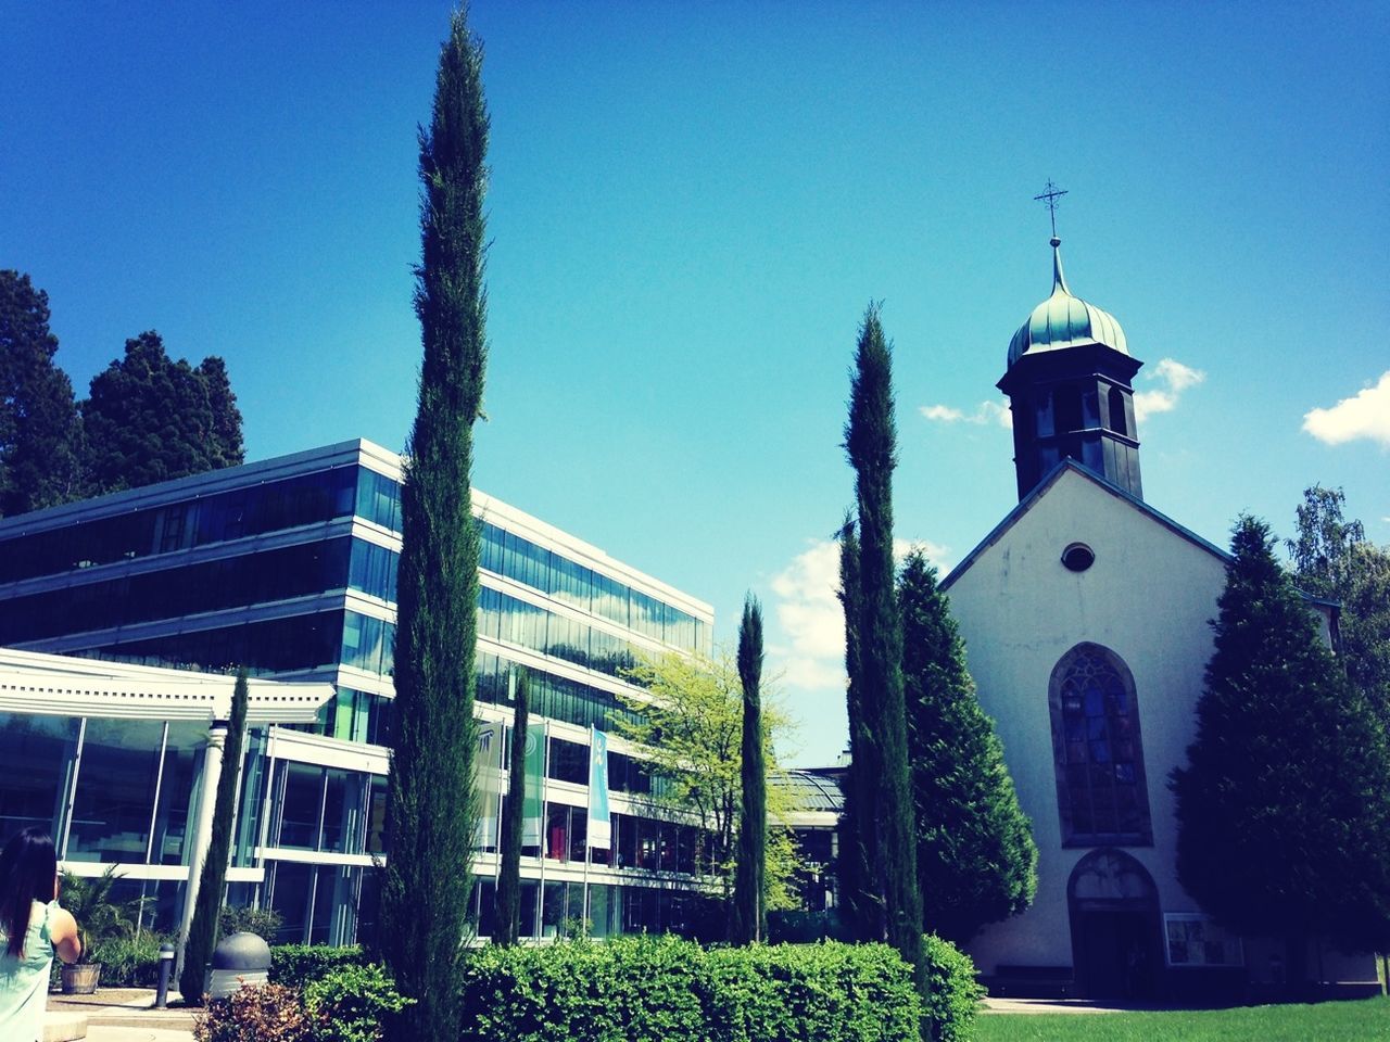
{"type": "MultiPolygon", "coordinates": [[[[897,424],[892,415],[892,353],[878,307],[870,304],[859,328],[849,388],[845,450],[855,468],[859,508],[859,709],[877,752],[873,806],[860,806],[877,834],[876,881],[883,888],[884,934],[915,970],[926,993],[922,895],[908,782],[908,725],[902,696],[902,620],[894,590],[892,470],[897,424]]],[[[865,793],[860,793],[862,796],[865,793]]]]}

